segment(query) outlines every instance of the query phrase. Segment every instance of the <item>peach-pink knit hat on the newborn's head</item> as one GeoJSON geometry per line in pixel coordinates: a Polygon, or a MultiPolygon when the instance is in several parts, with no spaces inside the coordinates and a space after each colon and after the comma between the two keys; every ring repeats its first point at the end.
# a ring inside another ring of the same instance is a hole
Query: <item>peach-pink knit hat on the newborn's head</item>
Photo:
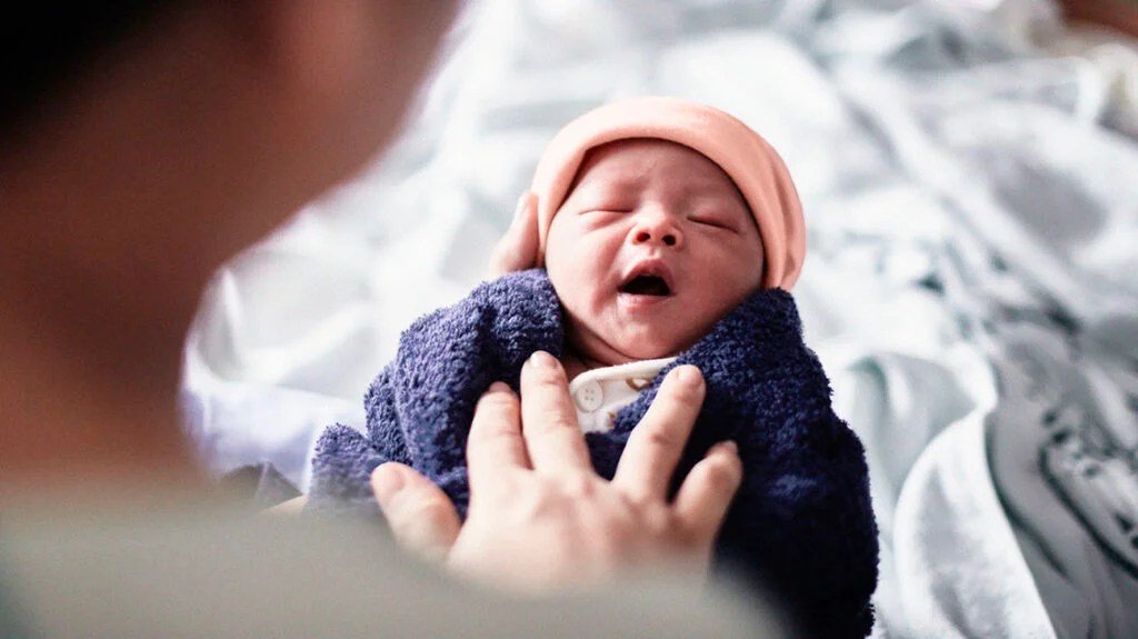
{"type": "Polygon", "coordinates": [[[754,215],[762,238],[762,288],[790,290],[806,256],[802,205],[778,153],[726,113],[676,98],[634,98],[599,107],[570,122],[553,138],[534,174],[538,250],[553,216],[569,196],[585,153],[633,138],[676,142],[704,155],[735,182],[754,215]]]}

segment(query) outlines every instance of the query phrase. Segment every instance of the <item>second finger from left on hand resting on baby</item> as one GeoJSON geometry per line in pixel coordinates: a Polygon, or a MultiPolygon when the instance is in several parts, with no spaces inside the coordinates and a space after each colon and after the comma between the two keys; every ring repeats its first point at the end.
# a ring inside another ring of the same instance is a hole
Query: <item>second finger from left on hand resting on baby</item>
{"type": "Polygon", "coordinates": [[[494,382],[478,400],[467,440],[467,467],[471,490],[485,478],[504,467],[529,467],[521,438],[518,396],[502,382],[494,382]]]}

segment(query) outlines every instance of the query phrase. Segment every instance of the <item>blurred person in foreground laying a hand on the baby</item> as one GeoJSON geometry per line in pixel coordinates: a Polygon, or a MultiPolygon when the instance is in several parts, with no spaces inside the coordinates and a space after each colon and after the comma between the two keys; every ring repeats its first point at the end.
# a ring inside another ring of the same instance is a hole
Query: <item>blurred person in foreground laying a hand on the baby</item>
{"type": "MultiPolygon", "coordinates": [[[[760,605],[700,592],[701,571],[671,574],[718,522],[628,498],[675,468],[692,367],[619,482],[578,464],[560,366],[527,367],[523,405],[490,388],[468,447],[479,516],[456,534],[426,479],[379,467],[395,537],[450,572],[351,522],[242,514],[195,468],[174,397],[199,291],[390,140],[454,10],[139,0],[6,20],[0,636],[781,634],[760,605]],[[498,561],[514,554],[534,561],[498,561]]],[[[701,468],[688,490],[729,500],[737,457],[701,468]]]]}

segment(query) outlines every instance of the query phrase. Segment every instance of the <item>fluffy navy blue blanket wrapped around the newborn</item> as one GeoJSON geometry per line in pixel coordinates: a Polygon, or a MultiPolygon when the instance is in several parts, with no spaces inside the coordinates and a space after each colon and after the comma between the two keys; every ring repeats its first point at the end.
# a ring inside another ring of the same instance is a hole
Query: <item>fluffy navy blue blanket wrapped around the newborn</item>
{"type": "MultiPolygon", "coordinates": [[[[382,462],[409,464],[464,513],[465,439],[479,396],[514,390],[535,350],[560,356],[561,307],[543,271],[478,287],[417,321],[365,397],[368,433],[337,425],[316,446],[311,507],[376,511],[369,478],[382,462]]],[[[716,567],[753,578],[811,637],[865,637],[877,581],[877,528],[860,441],[830,403],[830,383],[802,342],[790,293],[759,291],[681,354],[607,433],[588,433],[593,465],[612,478],[628,435],[665,373],[694,364],[707,398],[676,472],[711,445],[739,443],[744,478],[716,548],[716,567]]]]}

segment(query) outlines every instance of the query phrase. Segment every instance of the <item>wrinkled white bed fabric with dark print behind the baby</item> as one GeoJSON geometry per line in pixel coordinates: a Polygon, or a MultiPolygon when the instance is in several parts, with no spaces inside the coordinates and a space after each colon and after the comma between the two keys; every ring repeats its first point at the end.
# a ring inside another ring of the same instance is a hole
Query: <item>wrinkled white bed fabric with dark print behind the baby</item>
{"type": "MultiPolygon", "coordinates": [[[[875,633],[1122,636],[1120,604],[1138,609],[1125,558],[1038,459],[1065,429],[1136,463],[1138,146],[1116,69],[1055,55],[1057,15],[1046,0],[471,2],[394,152],[206,292],[183,385],[203,459],[267,460],[303,484],[319,431],[362,424],[399,331],[479,281],[553,133],[670,93],[736,115],[794,175],[806,341],[869,456],[875,633]],[[1050,366],[1046,392],[1007,382],[1050,366]],[[1070,406],[1087,417],[1045,418],[1070,406]],[[988,448],[993,433],[1016,446],[988,448]],[[1080,556],[1094,570],[1071,572],[1080,556]]],[[[1088,513],[1130,503],[1124,478],[1095,486],[1113,492],[1087,489],[1088,513]]]]}

